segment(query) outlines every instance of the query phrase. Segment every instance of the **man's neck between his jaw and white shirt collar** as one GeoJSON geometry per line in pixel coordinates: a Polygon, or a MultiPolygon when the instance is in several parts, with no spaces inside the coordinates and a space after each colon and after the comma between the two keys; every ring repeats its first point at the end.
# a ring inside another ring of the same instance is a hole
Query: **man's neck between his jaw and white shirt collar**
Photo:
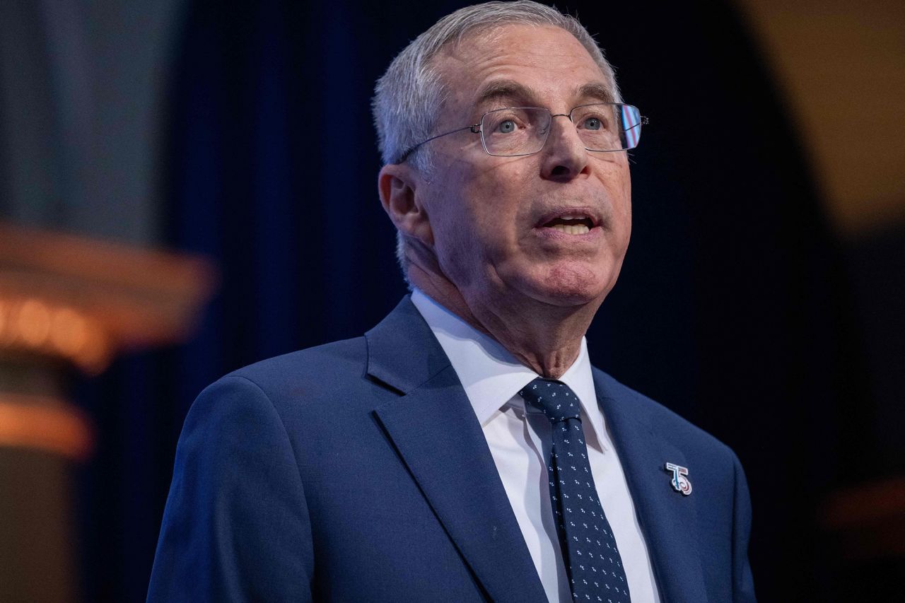
{"type": "Polygon", "coordinates": [[[469,302],[442,276],[414,268],[409,279],[425,295],[498,341],[522,364],[546,378],[561,377],[575,362],[581,339],[599,307],[599,303],[559,307],[533,301],[469,302]]]}

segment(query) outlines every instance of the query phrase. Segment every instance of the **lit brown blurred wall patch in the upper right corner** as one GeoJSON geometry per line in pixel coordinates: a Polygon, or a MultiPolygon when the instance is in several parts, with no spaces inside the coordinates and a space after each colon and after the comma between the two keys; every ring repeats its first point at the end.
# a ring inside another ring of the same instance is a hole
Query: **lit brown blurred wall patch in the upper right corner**
{"type": "Polygon", "coordinates": [[[905,7],[739,0],[793,112],[835,231],[905,224],[905,7]]]}

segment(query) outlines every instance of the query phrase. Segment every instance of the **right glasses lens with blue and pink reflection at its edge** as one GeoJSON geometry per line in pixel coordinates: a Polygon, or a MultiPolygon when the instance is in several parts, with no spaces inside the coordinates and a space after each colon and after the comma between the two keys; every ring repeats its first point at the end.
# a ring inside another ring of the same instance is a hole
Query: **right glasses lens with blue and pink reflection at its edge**
{"type": "Polygon", "coordinates": [[[641,138],[641,113],[631,105],[597,103],[576,107],[572,122],[588,150],[635,148],[641,138]]]}

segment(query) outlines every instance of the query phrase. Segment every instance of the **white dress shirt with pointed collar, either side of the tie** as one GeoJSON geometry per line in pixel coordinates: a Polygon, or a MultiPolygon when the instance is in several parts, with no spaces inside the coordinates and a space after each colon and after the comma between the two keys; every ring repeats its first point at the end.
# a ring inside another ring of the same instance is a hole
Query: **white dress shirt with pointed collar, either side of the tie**
{"type": "MultiPolygon", "coordinates": [[[[538,374],[424,292],[415,289],[412,302],[424,316],[462,381],[547,598],[571,602],[566,567],[559,552],[550,509],[547,476],[550,423],[540,410],[526,405],[518,394],[538,374]]],[[[581,401],[581,422],[591,474],[622,555],[632,601],[657,602],[660,598],[647,545],[635,516],[622,464],[597,404],[584,338],[578,358],[559,380],[572,388],[581,401]]]]}

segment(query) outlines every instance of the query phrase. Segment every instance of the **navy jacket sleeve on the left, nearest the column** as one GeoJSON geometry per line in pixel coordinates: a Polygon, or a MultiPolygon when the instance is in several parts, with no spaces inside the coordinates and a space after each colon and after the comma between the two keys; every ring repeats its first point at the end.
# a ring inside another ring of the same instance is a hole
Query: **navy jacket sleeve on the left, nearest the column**
{"type": "Polygon", "coordinates": [[[179,436],[148,601],[310,601],[312,550],[281,417],[249,379],[220,379],[179,436]]]}

